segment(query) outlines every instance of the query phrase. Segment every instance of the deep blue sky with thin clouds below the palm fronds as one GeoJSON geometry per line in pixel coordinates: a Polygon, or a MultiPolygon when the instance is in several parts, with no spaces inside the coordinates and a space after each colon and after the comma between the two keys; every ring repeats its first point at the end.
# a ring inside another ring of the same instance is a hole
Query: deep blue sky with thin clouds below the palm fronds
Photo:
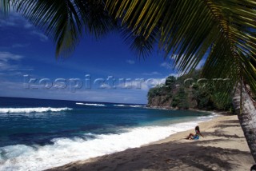
{"type": "Polygon", "coordinates": [[[150,87],[176,75],[157,52],[136,57],[119,34],[85,36],[59,59],[53,42],[18,14],[0,18],[0,36],[2,97],[146,104],[150,87]]]}

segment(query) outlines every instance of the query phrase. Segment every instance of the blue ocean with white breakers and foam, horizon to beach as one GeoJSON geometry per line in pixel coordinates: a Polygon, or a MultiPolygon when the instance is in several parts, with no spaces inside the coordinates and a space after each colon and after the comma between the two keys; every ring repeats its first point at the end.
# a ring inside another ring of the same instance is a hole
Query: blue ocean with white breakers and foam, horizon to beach
{"type": "Polygon", "coordinates": [[[158,141],[214,113],[0,97],[0,170],[43,170],[158,141]]]}

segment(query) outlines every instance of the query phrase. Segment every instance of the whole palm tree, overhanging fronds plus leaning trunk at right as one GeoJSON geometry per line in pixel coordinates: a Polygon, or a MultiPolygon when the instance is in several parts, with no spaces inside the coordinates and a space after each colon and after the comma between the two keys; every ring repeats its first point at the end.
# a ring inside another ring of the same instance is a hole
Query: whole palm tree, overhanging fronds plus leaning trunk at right
{"type": "MultiPolygon", "coordinates": [[[[178,71],[194,70],[207,54],[202,77],[229,78],[250,151],[256,161],[256,2],[254,0],[0,0],[12,2],[56,42],[56,54],[72,52],[84,32],[122,30],[142,57],[154,46],[178,71]]],[[[228,91],[228,90],[227,90],[228,91]]]]}

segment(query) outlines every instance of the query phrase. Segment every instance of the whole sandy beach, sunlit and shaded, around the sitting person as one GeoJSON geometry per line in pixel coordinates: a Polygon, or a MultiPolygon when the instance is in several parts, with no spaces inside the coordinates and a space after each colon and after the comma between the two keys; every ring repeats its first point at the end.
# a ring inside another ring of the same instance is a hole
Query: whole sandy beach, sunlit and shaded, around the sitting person
{"type": "Polygon", "coordinates": [[[220,116],[199,126],[205,136],[199,140],[184,139],[194,132],[191,129],[140,148],[50,170],[250,170],[254,159],[237,116],[220,116]]]}

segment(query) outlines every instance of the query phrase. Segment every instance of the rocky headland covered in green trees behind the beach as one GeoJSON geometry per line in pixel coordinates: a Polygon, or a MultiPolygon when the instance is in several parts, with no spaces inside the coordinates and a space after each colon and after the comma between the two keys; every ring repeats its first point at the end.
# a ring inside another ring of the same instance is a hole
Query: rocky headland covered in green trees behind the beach
{"type": "Polygon", "coordinates": [[[148,106],[233,111],[232,88],[228,87],[228,79],[206,80],[200,75],[201,71],[195,70],[178,78],[166,78],[165,84],[149,90],[148,106]],[[230,89],[230,92],[226,93],[226,89],[230,89]]]}

